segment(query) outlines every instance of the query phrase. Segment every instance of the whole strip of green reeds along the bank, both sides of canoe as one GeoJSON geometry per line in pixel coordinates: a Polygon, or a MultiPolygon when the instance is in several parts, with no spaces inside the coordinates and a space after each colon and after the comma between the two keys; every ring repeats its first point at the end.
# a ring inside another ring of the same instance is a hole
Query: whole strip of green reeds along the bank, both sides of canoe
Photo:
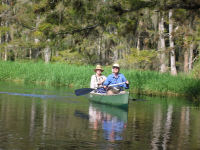
{"type": "MultiPolygon", "coordinates": [[[[64,63],[0,61],[0,80],[24,83],[89,87],[94,66],[79,66],[64,63]]],[[[111,67],[105,66],[103,74],[108,76],[111,67]]],[[[120,70],[130,82],[130,92],[152,96],[186,96],[199,100],[200,80],[188,75],[161,74],[155,71],[120,70]]]]}

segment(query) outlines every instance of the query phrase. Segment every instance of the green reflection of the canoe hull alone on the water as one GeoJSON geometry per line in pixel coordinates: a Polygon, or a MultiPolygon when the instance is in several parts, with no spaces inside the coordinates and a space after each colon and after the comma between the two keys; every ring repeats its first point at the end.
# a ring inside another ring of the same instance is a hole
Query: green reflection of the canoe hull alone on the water
{"type": "Polygon", "coordinates": [[[90,103],[90,107],[100,111],[103,114],[107,114],[107,115],[109,114],[112,117],[117,117],[119,120],[123,121],[124,123],[127,122],[128,108],[122,109],[119,107],[113,107],[113,106],[98,104],[98,103],[93,103],[93,102],[90,103]]]}

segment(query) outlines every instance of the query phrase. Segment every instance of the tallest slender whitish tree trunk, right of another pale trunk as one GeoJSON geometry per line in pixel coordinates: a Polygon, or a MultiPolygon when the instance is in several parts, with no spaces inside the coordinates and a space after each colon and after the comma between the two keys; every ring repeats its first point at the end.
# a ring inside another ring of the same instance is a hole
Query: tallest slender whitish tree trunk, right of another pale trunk
{"type": "Polygon", "coordinates": [[[176,56],[174,50],[174,41],[172,37],[173,32],[173,20],[172,20],[172,9],[169,10],[169,43],[170,43],[170,60],[171,60],[171,74],[177,75],[176,71],[176,56]]]}

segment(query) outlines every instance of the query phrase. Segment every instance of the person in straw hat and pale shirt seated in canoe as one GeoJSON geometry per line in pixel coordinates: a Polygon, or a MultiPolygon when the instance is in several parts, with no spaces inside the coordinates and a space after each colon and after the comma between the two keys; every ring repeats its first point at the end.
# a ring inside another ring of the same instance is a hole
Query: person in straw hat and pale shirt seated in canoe
{"type": "Polygon", "coordinates": [[[94,69],[95,74],[92,75],[91,81],[90,81],[90,88],[96,89],[95,92],[98,93],[105,93],[106,91],[103,88],[99,88],[103,85],[103,82],[106,80],[106,76],[102,75],[103,68],[101,65],[97,65],[94,69]]]}

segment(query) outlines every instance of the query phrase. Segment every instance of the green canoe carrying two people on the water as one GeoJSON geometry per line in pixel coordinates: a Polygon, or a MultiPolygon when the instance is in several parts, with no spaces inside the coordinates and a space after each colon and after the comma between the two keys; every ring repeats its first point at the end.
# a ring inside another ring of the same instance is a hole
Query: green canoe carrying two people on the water
{"type": "Polygon", "coordinates": [[[117,107],[128,107],[129,92],[107,95],[102,93],[90,93],[88,98],[92,102],[108,104],[117,107]]]}

